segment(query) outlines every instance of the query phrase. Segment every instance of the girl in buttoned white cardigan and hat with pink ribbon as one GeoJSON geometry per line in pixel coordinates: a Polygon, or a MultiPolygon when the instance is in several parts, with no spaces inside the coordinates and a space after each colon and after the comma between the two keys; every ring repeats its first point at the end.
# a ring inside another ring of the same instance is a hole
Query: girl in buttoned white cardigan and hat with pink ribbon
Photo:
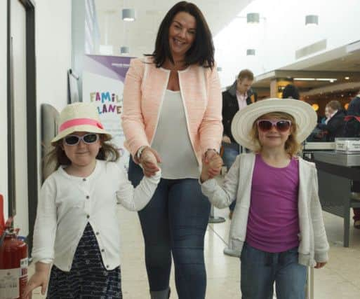
{"type": "Polygon", "coordinates": [[[145,176],[134,190],[114,162],[119,153],[105,143],[110,138],[93,104],[61,112],[51,141],[58,169],[44,182],[37,207],[30,298],[38,286],[43,294],[48,286],[48,298],[122,298],[116,204],[142,209],[161,174],[145,176]]]}

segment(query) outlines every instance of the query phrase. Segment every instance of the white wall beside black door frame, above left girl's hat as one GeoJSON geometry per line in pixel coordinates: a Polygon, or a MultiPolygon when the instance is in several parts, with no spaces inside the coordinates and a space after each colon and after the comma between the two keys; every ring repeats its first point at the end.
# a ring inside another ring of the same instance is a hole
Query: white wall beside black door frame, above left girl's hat
{"type": "Polygon", "coordinates": [[[39,183],[41,181],[41,104],[51,104],[58,111],[67,104],[67,70],[72,64],[71,6],[71,0],[36,0],[39,183]]]}

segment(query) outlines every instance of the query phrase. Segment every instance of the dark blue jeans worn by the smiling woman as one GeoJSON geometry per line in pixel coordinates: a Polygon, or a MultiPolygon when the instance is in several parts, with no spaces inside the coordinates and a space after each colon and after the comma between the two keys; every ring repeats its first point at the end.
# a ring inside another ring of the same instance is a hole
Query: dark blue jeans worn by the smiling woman
{"type": "MultiPolygon", "coordinates": [[[[142,169],[130,160],[128,177],[134,186],[142,176],[142,169]]],[[[150,291],[168,288],[173,254],[178,298],[204,299],[204,235],[210,202],[201,193],[198,181],[161,179],[149,204],[138,214],[150,291]]]]}

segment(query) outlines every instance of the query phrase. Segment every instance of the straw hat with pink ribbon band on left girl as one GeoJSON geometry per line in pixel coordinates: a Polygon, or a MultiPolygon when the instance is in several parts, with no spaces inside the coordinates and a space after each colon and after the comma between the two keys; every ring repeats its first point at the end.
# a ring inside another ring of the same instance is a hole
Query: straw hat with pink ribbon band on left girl
{"type": "Polygon", "coordinates": [[[107,141],[112,138],[111,134],[104,130],[100,122],[98,109],[92,103],[69,104],[60,113],[59,130],[51,144],[74,132],[89,132],[103,134],[107,141]]]}

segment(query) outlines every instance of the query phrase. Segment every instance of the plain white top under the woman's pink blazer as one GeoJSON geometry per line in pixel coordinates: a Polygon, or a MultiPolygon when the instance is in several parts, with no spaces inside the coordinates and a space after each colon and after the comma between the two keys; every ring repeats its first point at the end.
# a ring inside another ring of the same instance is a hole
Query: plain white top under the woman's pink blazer
{"type": "Polygon", "coordinates": [[[199,179],[199,163],[187,130],[180,91],[165,92],[152,148],[161,157],[162,178],[199,179]]]}

